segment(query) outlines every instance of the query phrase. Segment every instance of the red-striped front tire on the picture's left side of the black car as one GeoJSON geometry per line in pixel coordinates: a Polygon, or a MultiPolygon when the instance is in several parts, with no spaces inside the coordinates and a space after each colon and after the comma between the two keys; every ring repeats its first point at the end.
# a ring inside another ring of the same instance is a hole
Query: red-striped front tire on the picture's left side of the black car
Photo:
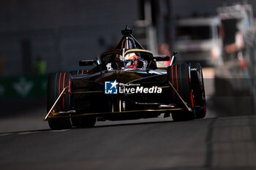
{"type": "MultiPolygon", "coordinates": [[[[70,92],[71,83],[72,77],[69,72],[56,72],[49,75],[47,88],[47,112],[49,112],[51,107],[53,107],[53,104],[64,88],[68,87],[65,92],[70,92]]],[[[61,97],[55,108],[56,112],[69,110],[70,96],[67,95],[61,97]]],[[[71,128],[69,117],[49,118],[48,124],[52,129],[71,128]]]]}

